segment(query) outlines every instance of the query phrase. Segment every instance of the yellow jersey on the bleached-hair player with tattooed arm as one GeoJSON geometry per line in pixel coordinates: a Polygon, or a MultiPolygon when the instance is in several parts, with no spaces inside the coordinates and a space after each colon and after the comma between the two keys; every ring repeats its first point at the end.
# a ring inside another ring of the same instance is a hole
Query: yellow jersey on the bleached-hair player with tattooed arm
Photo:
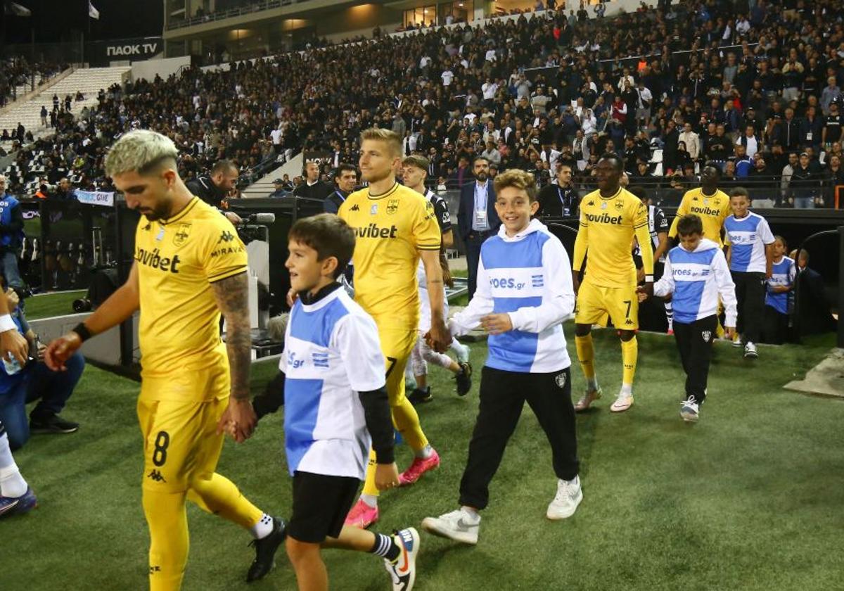
{"type": "Polygon", "coordinates": [[[246,247],[230,221],[197,197],[170,220],[142,217],[135,261],[142,376],[228,366],[211,284],[246,271],[246,247]]]}

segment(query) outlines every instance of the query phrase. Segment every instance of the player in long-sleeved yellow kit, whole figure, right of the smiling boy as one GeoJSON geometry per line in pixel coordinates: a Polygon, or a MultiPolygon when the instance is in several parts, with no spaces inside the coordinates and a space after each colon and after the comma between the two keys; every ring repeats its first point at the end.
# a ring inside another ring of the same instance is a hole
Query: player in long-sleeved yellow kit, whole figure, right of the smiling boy
{"type": "Polygon", "coordinates": [[[624,366],[621,389],[609,409],[622,412],[633,404],[633,377],[638,356],[636,328],[639,327],[636,265],[630,253],[633,236],[642,245],[646,285],[653,285],[653,250],[647,227],[647,208],[636,195],[620,186],[623,172],[617,155],[603,155],[598,160],[598,190],[581,201],[580,228],[571,266],[577,294],[575,344],[587,390],[575,404],[577,411],[589,408],[601,398],[601,387],[595,375],[592,324],[603,323],[608,315],[621,339],[624,366]],[[579,274],[584,258],[586,269],[581,281],[579,274]]]}

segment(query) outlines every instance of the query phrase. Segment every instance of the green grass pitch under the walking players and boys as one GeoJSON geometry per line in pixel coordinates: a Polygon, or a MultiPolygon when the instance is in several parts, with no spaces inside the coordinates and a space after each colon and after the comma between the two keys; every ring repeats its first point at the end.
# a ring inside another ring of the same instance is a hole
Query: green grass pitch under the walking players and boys
{"type": "MultiPolygon", "coordinates": [[[[570,353],[574,347],[569,333],[570,353]]],[[[578,416],[584,500],[563,522],[544,518],[555,477],[544,435],[529,409],[493,481],[477,547],[422,533],[420,591],[513,589],[841,589],[844,530],[844,404],[782,389],[820,361],[831,339],[760,347],[748,363],[719,342],[701,422],[679,419],[683,377],[668,337],[640,335],[636,404],[614,415],[620,386],[618,340],[595,333],[604,399],[578,416]]],[[[480,374],[486,348],[474,344],[480,374]]],[[[256,366],[256,390],[272,377],[256,366]]],[[[574,393],[582,373],[572,367],[574,393]]],[[[457,486],[478,405],[477,384],[460,399],[433,370],[435,399],[419,409],[441,469],[382,497],[388,532],[419,528],[456,507],[457,486]]],[[[65,415],[82,428],[34,436],[15,454],[40,507],[0,520],[0,589],[143,589],[148,536],[140,505],[138,384],[88,367],[65,415]]],[[[410,462],[398,448],[399,466],[410,462]]],[[[259,507],[289,514],[282,416],[262,420],[243,445],[226,442],[219,471],[259,507]]],[[[189,507],[191,554],[185,589],[247,588],[249,536],[189,507]]],[[[380,559],[328,550],[334,589],[389,588],[380,559]]],[[[249,588],[295,589],[284,552],[277,568],[249,588]]]]}

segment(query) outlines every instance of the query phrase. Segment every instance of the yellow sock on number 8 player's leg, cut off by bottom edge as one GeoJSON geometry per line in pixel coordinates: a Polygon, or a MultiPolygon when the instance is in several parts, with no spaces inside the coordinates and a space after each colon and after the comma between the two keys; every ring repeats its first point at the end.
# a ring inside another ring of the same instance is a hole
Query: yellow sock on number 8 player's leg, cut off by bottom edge
{"type": "Polygon", "coordinates": [[[189,547],[185,493],[143,489],[142,502],[149,525],[149,589],[179,591],[189,547]]]}

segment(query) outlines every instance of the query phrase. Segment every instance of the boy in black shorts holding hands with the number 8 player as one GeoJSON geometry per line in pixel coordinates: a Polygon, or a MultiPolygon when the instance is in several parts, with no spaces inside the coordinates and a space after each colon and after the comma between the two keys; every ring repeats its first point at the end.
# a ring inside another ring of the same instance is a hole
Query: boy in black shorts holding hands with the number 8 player
{"type": "Polygon", "coordinates": [[[384,359],[372,318],[338,283],[354,252],[354,232],[334,214],[299,220],[285,266],[299,294],[290,311],[279,369],[284,372],[284,447],[293,476],[287,553],[300,589],[327,589],[322,547],[382,556],[392,588],[416,577],[419,534],[393,536],[344,526],[376,453],[376,485],[398,486],[384,359]]]}

